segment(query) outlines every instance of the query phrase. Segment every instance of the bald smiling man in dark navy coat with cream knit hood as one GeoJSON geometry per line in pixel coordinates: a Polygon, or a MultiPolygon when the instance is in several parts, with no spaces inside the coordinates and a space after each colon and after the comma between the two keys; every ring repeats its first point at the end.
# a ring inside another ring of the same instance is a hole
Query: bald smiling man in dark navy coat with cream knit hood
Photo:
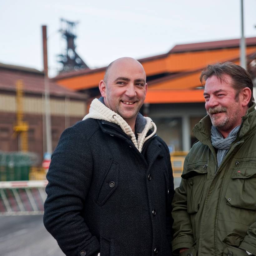
{"type": "Polygon", "coordinates": [[[143,66],[120,58],[106,69],[83,121],[66,129],[47,173],[44,224],[66,255],[170,256],[170,154],[140,113],[143,66]]]}

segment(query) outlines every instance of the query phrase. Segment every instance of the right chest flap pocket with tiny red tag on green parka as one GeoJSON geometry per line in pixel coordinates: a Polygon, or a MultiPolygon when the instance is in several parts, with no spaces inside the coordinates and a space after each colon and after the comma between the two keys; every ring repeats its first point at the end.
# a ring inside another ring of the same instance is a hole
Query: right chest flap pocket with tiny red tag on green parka
{"type": "Polygon", "coordinates": [[[227,204],[232,207],[256,210],[256,168],[238,166],[234,168],[225,194],[227,204]]]}

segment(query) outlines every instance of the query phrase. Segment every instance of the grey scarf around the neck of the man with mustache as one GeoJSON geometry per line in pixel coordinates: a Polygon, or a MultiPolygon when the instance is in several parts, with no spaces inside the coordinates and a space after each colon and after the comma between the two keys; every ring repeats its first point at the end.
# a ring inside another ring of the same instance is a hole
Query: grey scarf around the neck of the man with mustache
{"type": "Polygon", "coordinates": [[[218,152],[217,152],[218,167],[221,164],[224,156],[228,153],[231,143],[236,139],[236,134],[239,130],[239,127],[240,126],[236,126],[232,131],[230,131],[228,137],[224,139],[221,133],[218,131],[218,129],[215,126],[212,126],[211,141],[214,148],[218,149],[218,152]]]}

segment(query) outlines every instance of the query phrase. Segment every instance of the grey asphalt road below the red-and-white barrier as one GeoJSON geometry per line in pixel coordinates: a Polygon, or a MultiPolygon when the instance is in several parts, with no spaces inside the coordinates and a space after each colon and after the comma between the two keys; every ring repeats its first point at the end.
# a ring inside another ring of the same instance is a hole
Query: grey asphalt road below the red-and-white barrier
{"type": "Polygon", "coordinates": [[[65,256],[43,225],[42,215],[0,216],[1,256],[65,256]]]}

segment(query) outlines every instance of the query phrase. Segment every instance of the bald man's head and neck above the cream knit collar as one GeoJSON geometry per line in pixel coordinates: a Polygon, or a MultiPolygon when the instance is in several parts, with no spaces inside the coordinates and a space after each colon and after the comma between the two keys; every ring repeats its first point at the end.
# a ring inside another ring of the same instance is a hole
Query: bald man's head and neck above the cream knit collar
{"type": "Polygon", "coordinates": [[[135,120],[147,92],[146,73],[137,60],[119,58],[106,68],[99,83],[105,105],[120,115],[135,131],[135,120]]]}

